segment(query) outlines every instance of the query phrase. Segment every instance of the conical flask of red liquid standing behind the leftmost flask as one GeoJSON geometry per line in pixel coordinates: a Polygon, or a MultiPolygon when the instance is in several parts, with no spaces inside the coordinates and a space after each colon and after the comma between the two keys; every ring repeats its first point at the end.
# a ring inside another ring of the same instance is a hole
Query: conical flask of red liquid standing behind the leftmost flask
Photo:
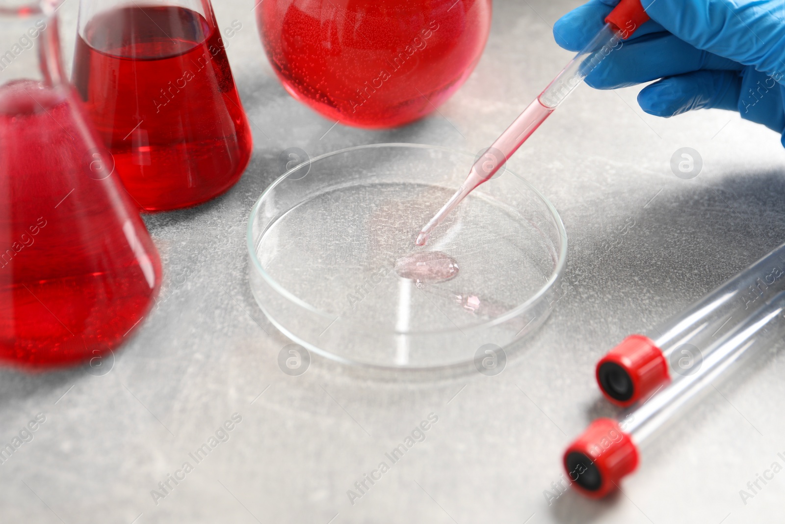
{"type": "Polygon", "coordinates": [[[225,192],[253,148],[210,0],[82,0],[73,81],[145,211],[225,192]]]}

